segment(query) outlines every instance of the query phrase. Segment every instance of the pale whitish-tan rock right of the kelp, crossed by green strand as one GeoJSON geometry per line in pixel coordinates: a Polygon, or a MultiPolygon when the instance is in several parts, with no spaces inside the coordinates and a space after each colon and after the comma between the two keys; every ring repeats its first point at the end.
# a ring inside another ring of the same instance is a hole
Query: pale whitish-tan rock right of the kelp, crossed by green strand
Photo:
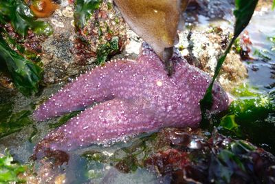
{"type": "MultiPolygon", "coordinates": [[[[214,75],[217,59],[223,54],[230,37],[229,30],[211,28],[210,30],[186,31],[179,34],[179,43],[176,45],[181,54],[192,65],[214,75]],[[216,30],[216,31],[213,31],[216,30]],[[218,30],[218,31],[217,31],[218,30]]],[[[226,91],[230,92],[241,84],[248,76],[245,65],[241,62],[239,54],[230,52],[226,57],[218,81],[226,91]]]]}

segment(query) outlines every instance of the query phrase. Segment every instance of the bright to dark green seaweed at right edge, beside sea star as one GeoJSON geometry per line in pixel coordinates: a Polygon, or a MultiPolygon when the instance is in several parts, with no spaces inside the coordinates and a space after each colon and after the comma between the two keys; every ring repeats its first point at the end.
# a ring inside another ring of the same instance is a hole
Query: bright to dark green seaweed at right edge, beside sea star
{"type": "Polygon", "coordinates": [[[219,132],[275,152],[275,92],[233,101],[219,123],[219,132]],[[263,134],[264,132],[264,134],[263,134]]]}

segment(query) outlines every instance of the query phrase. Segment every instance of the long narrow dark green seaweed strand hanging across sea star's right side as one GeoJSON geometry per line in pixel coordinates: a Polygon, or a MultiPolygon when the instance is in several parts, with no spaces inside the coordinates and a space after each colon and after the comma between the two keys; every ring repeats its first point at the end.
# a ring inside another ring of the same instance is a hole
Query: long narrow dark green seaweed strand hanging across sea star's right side
{"type": "Polygon", "coordinates": [[[201,114],[203,122],[201,123],[201,127],[208,127],[209,121],[207,119],[206,110],[210,109],[212,106],[212,88],[214,85],[214,80],[217,78],[219,71],[221,70],[221,66],[223,65],[223,61],[227,54],[230,52],[232,45],[234,44],[239,34],[244,30],[244,28],[250,22],[250,19],[254,13],[258,0],[235,0],[235,10],[234,16],[236,17],[236,22],[234,25],[234,35],[228,44],[228,48],[226,48],[223,55],[218,59],[217,66],[214,71],[214,76],[212,77],[212,81],[206,90],[206,94],[203,99],[200,101],[201,104],[201,114]]]}

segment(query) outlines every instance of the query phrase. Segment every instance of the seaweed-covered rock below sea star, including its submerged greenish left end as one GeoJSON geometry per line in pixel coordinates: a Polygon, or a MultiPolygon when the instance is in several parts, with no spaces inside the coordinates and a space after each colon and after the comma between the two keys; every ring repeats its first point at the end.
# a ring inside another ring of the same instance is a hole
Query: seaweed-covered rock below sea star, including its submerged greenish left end
{"type": "MultiPolygon", "coordinates": [[[[274,183],[275,176],[272,154],[216,130],[210,134],[199,129],[164,128],[134,139],[109,156],[92,148],[82,156],[90,170],[96,163],[115,165],[89,182],[119,183],[121,176],[131,176],[141,168],[157,176],[150,180],[155,183],[274,183]]],[[[144,177],[148,175],[144,173],[144,177]]]]}

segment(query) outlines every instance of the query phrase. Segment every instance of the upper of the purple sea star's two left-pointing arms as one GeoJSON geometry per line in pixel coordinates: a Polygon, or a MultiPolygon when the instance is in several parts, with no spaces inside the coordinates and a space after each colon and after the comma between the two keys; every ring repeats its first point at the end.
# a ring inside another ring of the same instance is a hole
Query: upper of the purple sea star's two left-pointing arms
{"type": "Polygon", "coordinates": [[[123,67],[124,61],[112,61],[79,76],[35,110],[34,119],[43,121],[66,112],[84,110],[94,102],[113,99],[111,83],[120,80],[119,71],[123,67]]]}

